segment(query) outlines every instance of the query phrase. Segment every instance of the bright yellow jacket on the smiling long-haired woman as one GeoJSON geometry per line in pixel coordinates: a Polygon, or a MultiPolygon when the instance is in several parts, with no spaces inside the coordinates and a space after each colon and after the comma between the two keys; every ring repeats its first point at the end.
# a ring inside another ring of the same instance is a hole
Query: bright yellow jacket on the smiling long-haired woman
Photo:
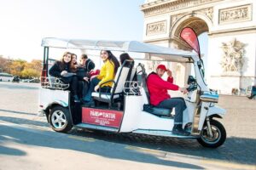
{"type": "Polygon", "coordinates": [[[101,85],[103,82],[107,82],[106,84],[103,84],[104,86],[110,86],[112,87],[113,82],[108,82],[109,80],[113,80],[114,78],[114,65],[113,62],[110,60],[107,60],[104,65],[102,65],[100,75],[97,76],[98,79],[101,80],[101,82],[98,83],[98,85],[101,85]]]}

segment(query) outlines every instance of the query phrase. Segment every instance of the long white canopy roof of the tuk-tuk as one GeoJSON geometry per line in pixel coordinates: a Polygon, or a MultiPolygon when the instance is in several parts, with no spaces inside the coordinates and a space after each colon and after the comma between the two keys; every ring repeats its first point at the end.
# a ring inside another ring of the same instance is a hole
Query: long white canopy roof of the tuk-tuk
{"type": "Polygon", "coordinates": [[[174,48],[166,48],[137,41],[106,41],[106,40],[84,40],[84,39],[61,39],[55,37],[45,37],[42,40],[43,47],[49,48],[75,48],[88,50],[112,50],[122,52],[144,53],[144,59],[170,60],[178,62],[188,62],[192,56],[197,54],[190,51],[183,51],[174,48]],[[154,59],[153,59],[154,58],[154,59]]]}

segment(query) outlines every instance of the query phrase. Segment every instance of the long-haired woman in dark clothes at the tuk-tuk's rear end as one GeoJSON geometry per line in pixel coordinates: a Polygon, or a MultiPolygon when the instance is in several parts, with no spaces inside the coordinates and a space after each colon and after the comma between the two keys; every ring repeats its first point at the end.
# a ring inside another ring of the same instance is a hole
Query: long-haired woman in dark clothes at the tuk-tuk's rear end
{"type": "Polygon", "coordinates": [[[70,69],[71,55],[71,53],[65,52],[62,55],[61,61],[56,61],[55,64],[49,69],[49,75],[60,78],[62,82],[69,83],[74,102],[79,102],[80,100],[77,93],[78,77],[74,76],[70,69]]]}

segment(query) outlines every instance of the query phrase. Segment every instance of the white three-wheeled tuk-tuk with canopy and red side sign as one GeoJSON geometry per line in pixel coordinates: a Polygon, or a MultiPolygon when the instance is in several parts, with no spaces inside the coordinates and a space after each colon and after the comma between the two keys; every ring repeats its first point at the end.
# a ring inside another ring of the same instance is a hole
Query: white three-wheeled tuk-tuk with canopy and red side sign
{"type": "Polygon", "coordinates": [[[197,54],[136,41],[44,38],[42,46],[44,70],[41,77],[39,106],[56,132],[66,133],[72,127],[80,127],[113,133],[143,133],[197,139],[203,146],[211,148],[224,143],[226,139],[224,126],[215,118],[222,118],[225,111],[217,106],[218,94],[210,90],[204,81],[201,59],[197,54]],[[190,135],[181,136],[172,133],[173,111],[148,105],[147,73],[142,64],[121,65],[113,80],[111,92],[109,94],[94,92],[92,96],[96,105],[86,107],[83,103],[73,102],[68,84],[49,76],[50,48],[79,49],[86,52],[102,49],[112,52],[132,52],[141,54],[140,59],[194,65],[195,77],[187,77],[189,93],[184,97],[187,109],[183,111],[183,127],[190,135]]]}

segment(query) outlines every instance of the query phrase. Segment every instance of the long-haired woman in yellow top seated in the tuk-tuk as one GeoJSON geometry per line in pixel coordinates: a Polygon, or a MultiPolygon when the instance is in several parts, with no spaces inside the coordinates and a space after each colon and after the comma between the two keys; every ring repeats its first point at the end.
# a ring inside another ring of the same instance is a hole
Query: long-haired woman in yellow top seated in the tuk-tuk
{"type": "Polygon", "coordinates": [[[91,99],[91,93],[93,91],[97,91],[101,86],[101,92],[108,93],[110,92],[111,87],[113,86],[113,82],[108,82],[114,79],[116,71],[119,67],[119,60],[111,53],[109,50],[101,51],[101,58],[104,62],[102,65],[100,75],[94,77],[90,81],[90,88],[84,96],[84,102],[88,105],[93,105],[94,102],[91,99]],[[104,83],[107,82],[107,83],[104,83]]]}

